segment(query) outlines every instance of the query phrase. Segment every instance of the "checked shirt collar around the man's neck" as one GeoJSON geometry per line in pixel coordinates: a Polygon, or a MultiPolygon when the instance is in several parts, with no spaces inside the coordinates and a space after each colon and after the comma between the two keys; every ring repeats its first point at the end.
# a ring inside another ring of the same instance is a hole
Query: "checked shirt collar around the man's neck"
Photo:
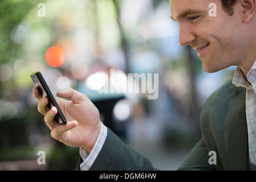
{"type": "Polygon", "coordinates": [[[235,69],[234,77],[232,83],[235,86],[242,86],[248,88],[250,85],[256,86],[256,60],[251,67],[250,71],[247,73],[247,77],[243,75],[243,72],[240,68],[235,69]]]}

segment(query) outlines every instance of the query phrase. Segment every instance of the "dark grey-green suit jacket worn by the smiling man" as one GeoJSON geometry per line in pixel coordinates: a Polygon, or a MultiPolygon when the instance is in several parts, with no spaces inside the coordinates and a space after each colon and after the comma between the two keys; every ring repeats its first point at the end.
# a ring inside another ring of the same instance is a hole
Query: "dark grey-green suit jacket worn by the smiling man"
{"type": "MultiPolygon", "coordinates": [[[[200,117],[202,138],[178,170],[246,170],[245,95],[246,89],[237,88],[230,80],[208,98],[200,117]],[[217,164],[209,164],[210,151],[216,152],[217,164]]],[[[103,148],[90,170],[155,168],[147,158],[126,146],[108,129],[103,148]]]]}

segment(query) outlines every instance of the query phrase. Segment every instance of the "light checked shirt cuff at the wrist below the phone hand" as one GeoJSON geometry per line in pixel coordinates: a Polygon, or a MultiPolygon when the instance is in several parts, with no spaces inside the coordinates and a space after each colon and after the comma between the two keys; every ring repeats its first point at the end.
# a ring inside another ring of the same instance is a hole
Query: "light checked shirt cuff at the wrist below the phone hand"
{"type": "Polygon", "coordinates": [[[99,155],[99,152],[103,147],[106,137],[107,127],[105,127],[105,125],[103,125],[103,123],[101,122],[100,134],[97,137],[97,140],[95,142],[94,148],[92,148],[91,153],[89,154],[86,150],[84,150],[84,148],[80,147],[80,156],[84,161],[80,164],[80,169],[82,171],[88,171],[91,168],[92,164],[94,164],[97,155],[99,155]]]}

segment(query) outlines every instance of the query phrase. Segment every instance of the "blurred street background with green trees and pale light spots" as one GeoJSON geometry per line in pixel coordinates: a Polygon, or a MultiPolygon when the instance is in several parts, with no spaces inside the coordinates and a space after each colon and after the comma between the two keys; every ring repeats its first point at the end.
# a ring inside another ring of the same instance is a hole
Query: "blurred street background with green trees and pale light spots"
{"type": "Polygon", "coordinates": [[[51,138],[37,110],[36,71],[54,95],[67,86],[87,94],[125,143],[175,170],[201,138],[206,99],[234,72],[205,73],[178,28],[168,0],[0,0],[0,170],[77,169],[79,149],[51,138]],[[124,79],[158,73],[159,97],[100,94],[110,69],[124,79]]]}

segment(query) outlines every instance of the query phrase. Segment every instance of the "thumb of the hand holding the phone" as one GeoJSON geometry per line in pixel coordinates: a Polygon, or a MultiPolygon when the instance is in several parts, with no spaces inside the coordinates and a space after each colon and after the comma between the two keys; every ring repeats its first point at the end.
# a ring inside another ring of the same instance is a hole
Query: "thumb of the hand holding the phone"
{"type": "Polygon", "coordinates": [[[87,96],[85,94],[82,94],[70,87],[67,87],[64,90],[57,92],[56,95],[61,98],[67,98],[75,104],[79,104],[79,102],[82,102],[87,99],[87,96]]]}

